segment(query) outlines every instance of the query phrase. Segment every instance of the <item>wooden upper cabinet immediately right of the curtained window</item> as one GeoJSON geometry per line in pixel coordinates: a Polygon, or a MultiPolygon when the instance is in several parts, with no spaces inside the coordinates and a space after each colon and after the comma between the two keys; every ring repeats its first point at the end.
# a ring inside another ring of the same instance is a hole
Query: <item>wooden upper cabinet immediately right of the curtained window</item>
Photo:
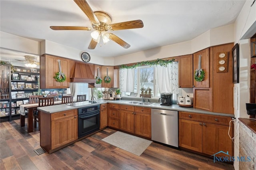
{"type": "Polygon", "coordinates": [[[178,57],[179,87],[193,87],[193,55],[178,57]]]}

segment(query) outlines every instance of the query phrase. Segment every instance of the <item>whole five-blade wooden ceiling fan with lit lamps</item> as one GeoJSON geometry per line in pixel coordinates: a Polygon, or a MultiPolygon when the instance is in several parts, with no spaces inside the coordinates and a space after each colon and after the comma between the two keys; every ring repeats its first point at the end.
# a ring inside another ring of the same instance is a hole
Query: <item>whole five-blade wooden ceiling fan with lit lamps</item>
{"type": "MultiPolygon", "coordinates": [[[[143,28],[142,20],[133,20],[111,24],[111,18],[108,14],[101,11],[93,12],[86,0],[74,0],[81,10],[86,14],[92,23],[92,29],[94,32],[91,33],[92,40],[88,46],[88,49],[95,49],[96,45],[102,40],[104,43],[112,40],[124,48],[129,48],[130,44],[118,36],[108,33],[109,30],[126,30],[133,28],[143,28]]],[[[52,30],[92,30],[90,27],[77,27],[77,26],[50,26],[52,30]]]]}

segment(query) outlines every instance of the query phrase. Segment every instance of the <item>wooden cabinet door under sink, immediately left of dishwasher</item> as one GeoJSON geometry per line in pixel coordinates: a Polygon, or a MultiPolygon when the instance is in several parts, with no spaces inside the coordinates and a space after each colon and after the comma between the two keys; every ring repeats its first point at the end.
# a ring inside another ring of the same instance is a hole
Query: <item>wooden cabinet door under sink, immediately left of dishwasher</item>
{"type": "Polygon", "coordinates": [[[151,114],[134,113],[134,133],[151,139],[151,114]]]}

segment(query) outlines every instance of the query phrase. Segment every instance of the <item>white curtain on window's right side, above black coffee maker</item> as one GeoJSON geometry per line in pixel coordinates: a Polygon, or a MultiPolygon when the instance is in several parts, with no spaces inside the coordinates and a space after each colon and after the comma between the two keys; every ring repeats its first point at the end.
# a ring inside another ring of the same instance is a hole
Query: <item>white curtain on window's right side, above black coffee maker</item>
{"type": "MultiPolygon", "coordinates": [[[[178,62],[169,63],[167,67],[157,65],[157,79],[160,93],[178,93],[178,62]]],[[[174,100],[176,95],[174,95],[174,100]]]]}

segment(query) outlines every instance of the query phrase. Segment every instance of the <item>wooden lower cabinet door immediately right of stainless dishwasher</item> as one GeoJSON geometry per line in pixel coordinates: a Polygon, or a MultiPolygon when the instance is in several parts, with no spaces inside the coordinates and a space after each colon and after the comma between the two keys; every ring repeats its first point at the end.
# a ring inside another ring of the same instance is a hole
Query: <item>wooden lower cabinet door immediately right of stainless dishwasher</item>
{"type": "Polygon", "coordinates": [[[179,146],[202,152],[202,123],[179,119],[179,146]]]}

